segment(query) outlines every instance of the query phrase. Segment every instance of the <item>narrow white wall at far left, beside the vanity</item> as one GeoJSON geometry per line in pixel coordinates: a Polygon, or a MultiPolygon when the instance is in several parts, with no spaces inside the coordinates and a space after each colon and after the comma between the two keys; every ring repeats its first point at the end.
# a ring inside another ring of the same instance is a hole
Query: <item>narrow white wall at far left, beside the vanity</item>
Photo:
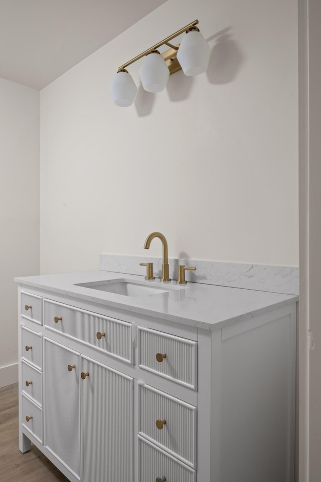
{"type": "Polygon", "coordinates": [[[15,276],[39,274],[39,92],[0,79],[0,387],[18,381],[15,276]]]}

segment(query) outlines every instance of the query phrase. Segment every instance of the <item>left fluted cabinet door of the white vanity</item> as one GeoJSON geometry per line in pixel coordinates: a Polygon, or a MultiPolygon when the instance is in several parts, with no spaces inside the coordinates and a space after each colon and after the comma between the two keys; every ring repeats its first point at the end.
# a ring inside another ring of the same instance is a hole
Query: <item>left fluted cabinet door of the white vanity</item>
{"type": "Polygon", "coordinates": [[[80,356],[47,338],[44,353],[45,446],[80,479],[80,356]]]}

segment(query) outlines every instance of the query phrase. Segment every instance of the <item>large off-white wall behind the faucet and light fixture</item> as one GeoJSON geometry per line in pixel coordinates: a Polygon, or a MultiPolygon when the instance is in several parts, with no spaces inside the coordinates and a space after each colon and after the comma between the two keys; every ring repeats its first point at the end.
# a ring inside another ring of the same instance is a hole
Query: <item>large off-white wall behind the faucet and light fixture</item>
{"type": "Polygon", "coordinates": [[[297,92],[295,0],[169,0],[41,92],[41,272],[153,230],[170,257],[297,266],[297,92]],[[196,18],[208,72],[114,106],[119,65],[196,18]]]}

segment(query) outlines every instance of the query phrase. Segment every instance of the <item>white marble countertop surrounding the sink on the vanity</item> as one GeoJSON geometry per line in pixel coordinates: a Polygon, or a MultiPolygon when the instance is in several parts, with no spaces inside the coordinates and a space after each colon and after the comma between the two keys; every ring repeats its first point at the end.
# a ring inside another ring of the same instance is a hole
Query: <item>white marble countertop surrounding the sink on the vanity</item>
{"type": "Polygon", "coordinates": [[[94,270],[15,278],[17,283],[137,314],[215,330],[298,301],[296,295],[202,283],[146,281],[143,276],[94,270]],[[124,296],[77,286],[79,283],[127,280],[169,290],[143,297],[124,296]]]}

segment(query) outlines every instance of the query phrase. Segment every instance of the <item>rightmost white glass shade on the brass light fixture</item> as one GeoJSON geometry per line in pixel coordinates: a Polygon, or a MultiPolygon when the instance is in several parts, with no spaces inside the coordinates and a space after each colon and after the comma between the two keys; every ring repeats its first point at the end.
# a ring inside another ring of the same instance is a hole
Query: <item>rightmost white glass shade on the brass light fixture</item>
{"type": "Polygon", "coordinates": [[[191,30],[182,39],[177,53],[185,75],[199,75],[206,71],[211,55],[211,48],[201,32],[191,30]]]}

